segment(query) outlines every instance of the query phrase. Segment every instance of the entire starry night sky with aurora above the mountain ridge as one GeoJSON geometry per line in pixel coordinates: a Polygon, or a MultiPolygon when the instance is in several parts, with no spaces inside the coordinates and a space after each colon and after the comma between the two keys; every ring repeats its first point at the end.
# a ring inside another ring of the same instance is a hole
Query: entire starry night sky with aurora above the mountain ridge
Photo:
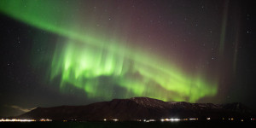
{"type": "Polygon", "coordinates": [[[255,5],[1,0],[0,116],[134,96],[256,108],[255,5]]]}

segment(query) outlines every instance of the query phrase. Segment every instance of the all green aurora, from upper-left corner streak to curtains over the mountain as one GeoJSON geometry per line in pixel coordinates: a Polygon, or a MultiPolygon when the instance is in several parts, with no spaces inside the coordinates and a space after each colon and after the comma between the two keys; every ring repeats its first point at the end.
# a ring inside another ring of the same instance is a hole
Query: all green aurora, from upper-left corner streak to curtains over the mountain
{"type": "Polygon", "coordinates": [[[99,36],[100,30],[90,22],[78,24],[79,19],[69,17],[74,6],[48,0],[0,1],[4,15],[67,38],[57,43],[50,66],[50,80],[60,77],[61,90],[72,85],[84,90],[88,98],[112,99],[119,93],[187,102],[217,94],[216,80],[204,79],[201,73],[184,73],[173,62],[132,46],[125,39],[99,36]],[[84,27],[86,31],[81,29],[84,27]]]}

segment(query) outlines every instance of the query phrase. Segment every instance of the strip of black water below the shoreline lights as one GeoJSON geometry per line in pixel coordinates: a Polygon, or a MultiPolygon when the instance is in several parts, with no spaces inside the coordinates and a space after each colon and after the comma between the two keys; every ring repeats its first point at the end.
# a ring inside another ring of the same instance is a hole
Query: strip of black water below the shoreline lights
{"type": "Polygon", "coordinates": [[[0,128],[255,128],[253,122],[2,122],[0,128]]]}

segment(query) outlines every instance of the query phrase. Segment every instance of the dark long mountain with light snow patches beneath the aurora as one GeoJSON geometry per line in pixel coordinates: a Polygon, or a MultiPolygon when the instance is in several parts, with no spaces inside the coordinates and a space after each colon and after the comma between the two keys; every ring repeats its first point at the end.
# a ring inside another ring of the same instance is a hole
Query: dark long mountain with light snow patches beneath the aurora
{"type": "Polygon", "coordinates": [[[21,114],[19,119],[52,120],[138,120],[138,119],[251,119],[254,114],[245,105],[163,102],[148,97],[113,99],[110,102],[96,102],[85,106],[60,106],[35,108],[21,114]]]}

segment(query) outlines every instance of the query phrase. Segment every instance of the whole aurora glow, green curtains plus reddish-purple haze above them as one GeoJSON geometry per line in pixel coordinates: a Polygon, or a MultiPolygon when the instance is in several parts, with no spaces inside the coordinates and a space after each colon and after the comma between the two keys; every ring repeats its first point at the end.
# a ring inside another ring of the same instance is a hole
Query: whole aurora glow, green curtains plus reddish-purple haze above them
{"type": "Polygon", "coordinates": [[[241,41],[230,38],[229,28],[242,32],[239,21],[229,22],[232,8],[240,7],[229,1],[0,1],[2,17],[35,31],[26,36],[32,53],[25,56],[41,76],[40,88],[87,101],[230,96],[241,41]]]}

